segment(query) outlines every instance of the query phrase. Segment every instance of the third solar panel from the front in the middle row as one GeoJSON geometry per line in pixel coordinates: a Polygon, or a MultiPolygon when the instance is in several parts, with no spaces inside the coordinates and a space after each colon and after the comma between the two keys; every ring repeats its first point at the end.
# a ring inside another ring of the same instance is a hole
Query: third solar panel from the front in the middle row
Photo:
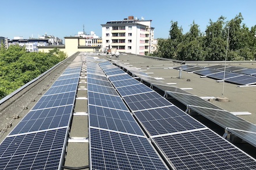
{"type": "Polygon", "coordinates": [[[120,96],[104,95],[101,93],[88,92],[88,104],[118,110],[128,110],[120,96]]]}

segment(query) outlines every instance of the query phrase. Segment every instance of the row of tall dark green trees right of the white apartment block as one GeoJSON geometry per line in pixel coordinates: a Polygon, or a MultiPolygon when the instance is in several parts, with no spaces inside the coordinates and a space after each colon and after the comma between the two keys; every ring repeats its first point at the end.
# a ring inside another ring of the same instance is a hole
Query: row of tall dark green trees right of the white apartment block
{"type": "Polygon", "coordinates": [[[241,13],[230,21],[225,20],[223,16],[215,22],[210,19],[204,32],[193,21],[186,34],[177,21],[171,21],[169,38],[158,39],[154,55],[178,60],[225,60],[229,32],[227,60],[255,60],[256,26],[246,27],[241,13]]]}

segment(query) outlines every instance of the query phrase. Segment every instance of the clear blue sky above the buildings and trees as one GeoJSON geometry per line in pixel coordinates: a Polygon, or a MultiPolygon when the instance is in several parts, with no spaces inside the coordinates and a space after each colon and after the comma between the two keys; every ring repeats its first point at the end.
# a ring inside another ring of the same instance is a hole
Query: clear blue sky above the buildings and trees
{"type": "Polygon", "coordinates": [[[155,38],[168,38],[172,20],[182,26],[183,34],[189,31],[193,20],[204,32],[209,19],[216,21],[225,16],[228,21],[240,12],[247,27],[256,24],[254,0],[8,0],[0,4],[0,37],[9,39],[14,36],[37,38],[45,32],[63,39],[83,31],[83,24],[87,33],[94,31],[101,37],[101,24],[128,16],[152,20],[155,38]]]}

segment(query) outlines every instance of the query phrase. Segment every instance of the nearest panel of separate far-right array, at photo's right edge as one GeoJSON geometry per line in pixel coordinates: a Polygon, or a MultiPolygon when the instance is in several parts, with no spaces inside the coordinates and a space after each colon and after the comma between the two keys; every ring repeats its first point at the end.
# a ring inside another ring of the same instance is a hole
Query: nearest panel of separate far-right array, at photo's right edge
{"type": "Polygon", "coordinates": [[[225,81],[239,85],[253,85],[256,84],[256,77],[251,75],[241,75],[239,77],[227,78],[225,81]]]}

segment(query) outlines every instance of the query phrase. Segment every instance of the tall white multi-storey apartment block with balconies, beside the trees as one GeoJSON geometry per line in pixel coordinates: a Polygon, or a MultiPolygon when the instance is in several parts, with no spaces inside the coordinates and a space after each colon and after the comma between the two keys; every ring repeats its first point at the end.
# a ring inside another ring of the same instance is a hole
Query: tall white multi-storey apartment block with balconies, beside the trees
{"type": "Polygon", "coordinates": [[[108,21],[102,26],[103,49],[116,48],[118,52],[147,55],[154,41],[152,20],[129,16],[128,19],[108,21]]]}

